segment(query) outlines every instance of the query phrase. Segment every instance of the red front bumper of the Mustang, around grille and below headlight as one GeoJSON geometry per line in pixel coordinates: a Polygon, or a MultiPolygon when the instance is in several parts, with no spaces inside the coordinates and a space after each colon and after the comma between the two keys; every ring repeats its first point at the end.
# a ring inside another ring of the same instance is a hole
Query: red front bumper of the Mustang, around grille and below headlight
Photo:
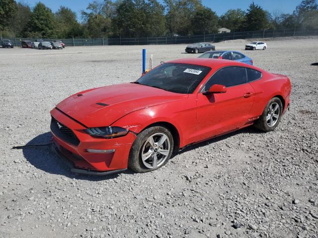
{"type": "Polygon", "coordinates": [[[68,127],[73,131],[79,140],[79,143],[72,144],[66,138],[57,136],[53,131],[52,142],[55,151],[63,157],[67,158],[72,164],[72,171],[75,173],[99,174],[105,175],[115,170],[125,170],[128,165],[128,157],[130,148],[136,139],[133,132],[128,132],[127,135],[105,139],[101,137],[92,137],[88,135],[84,129],[85,126],[71,119],[58,109],[53,109],[51,115],[54,119],[68,127]],[[92,153],[87,150],[103,150],[105,153],[92,153]]]}

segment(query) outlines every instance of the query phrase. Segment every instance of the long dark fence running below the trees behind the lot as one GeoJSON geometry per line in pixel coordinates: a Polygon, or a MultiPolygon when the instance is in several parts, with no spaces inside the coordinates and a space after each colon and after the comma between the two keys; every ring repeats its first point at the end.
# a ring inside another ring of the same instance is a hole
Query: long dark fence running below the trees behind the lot
{"type": "MultiPolygon", "coordinates": [[[[317,36],[318,29],[281,29],[281,30],[260,30],[260,31],[242,31],[207,35],[193,36],[159,36],[159,37],[141,37],[141,38],[98,38],[98,39],[42,39],[44,41],[62,40],[66,46],[109,46],[109,45],[166,45],[166,44],[190,44],[196,42],[220,42],[236,39],[261,39],[275,37],[293,37],[293,36],[317,36]]],[[[2,40],[11,40],[14,46],[21,47],[21,42],[29,40],[36,42],[38,39],[29,38],[2,38],[2,40]]]]}

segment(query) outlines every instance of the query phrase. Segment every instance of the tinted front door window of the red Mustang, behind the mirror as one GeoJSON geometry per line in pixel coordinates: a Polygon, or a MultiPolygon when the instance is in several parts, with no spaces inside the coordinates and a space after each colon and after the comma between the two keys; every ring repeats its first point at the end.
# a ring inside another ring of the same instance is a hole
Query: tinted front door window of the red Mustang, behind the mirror
{"type": "Polygon", "coordinates": [[[219,69],[212,75],[209,81],[205,84],[204,89],[207,91],[214,84],[224,85],[226,87],[236,86],[247,83],[246,69],[244,67],[225,67],[219,69]]]}

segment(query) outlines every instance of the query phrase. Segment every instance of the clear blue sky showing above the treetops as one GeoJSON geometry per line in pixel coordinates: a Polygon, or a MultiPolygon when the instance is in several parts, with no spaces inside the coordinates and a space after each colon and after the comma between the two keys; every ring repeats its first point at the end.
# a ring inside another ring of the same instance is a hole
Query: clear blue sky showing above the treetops
{"type": "MultiPolygon", "coordinates": [[[[80,20],[80,11],[85,10],[89,2],[93,0],[18,0],[19,2],[27,3],[33,7],[37,2],[41,1],[46,6],[50,7],[53,12],[57,11],[61,5],[71,8],[77,13],[80,20]]],[[[102,1],[102,0],[99,0],[102,1]]],[[[162,0],[159,0],[162,2],[162,0]]],[[[230,8],[241,8],[246,10],[252,0],[202,0],[202,3],[210,7],[220,16],[230,8]]],[[[254,0],[265,10],[273,12],[278,10],[281,13],[292,13],[301,0],[254,0]]]]}

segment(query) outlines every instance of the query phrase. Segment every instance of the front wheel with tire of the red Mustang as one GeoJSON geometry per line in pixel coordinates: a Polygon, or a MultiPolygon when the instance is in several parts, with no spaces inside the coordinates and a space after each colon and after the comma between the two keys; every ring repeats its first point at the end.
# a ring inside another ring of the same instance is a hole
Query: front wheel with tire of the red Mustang
{"type": "Polygon", "coordinates": [[[157,170],[168,162],[172,151],[173,137],[171,132],[162,126],[149,127],[137,135],[130,149],[128,168],[137,173],[157,170]],[[163,143],[158,146],[160,139],[163,143]],[[156,162],[155,158],[157,158],[156,162]],[[154,165],[154,163],[156,164],[154,165]]]}

